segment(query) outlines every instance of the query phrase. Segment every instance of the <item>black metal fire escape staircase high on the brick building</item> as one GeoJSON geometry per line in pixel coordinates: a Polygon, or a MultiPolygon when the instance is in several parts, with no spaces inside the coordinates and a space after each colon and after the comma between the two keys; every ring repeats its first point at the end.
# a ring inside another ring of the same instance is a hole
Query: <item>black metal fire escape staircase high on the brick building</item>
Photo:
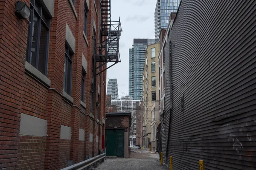
{"type": "Polygon", "coordinates": [[[102,63],[96,69],[101,68],[108,62],[112,62],[113,64],[103,69],[98,74],[102,73],[103,71],[107,70],[118,62],[121,62],[119,56],[119,37],[121,36],[122,31],[120,18],[119,21],[111,21],[111,0],[101,0],[100,5],[102,15],[102,42],[100,42],[99,44],[95,43],[94,56],[96,62],[102,63]]]}

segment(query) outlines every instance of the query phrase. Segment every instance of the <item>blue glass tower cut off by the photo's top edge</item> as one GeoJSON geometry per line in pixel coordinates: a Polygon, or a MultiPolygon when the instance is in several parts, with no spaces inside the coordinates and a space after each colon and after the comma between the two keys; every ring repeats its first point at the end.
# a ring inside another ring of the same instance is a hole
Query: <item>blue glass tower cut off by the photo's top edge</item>
{"type": "Polygon", "coordinates": [[[157,0],[155,9],[155,39],[159,41],[160,31],[167,28],[171,12],[176,12],[179,8],[180,0],[157,0]]]}

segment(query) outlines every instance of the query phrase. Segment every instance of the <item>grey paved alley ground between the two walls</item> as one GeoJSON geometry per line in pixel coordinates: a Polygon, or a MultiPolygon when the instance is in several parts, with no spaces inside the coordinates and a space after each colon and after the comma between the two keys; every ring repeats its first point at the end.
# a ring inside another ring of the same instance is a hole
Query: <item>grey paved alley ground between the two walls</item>
{"type": "Polygon", "coordinates": [[[169,168],[160,165],[158,153],[131,150],[129,158],[107,158],[95,170],[169,170],[169,168]]]}

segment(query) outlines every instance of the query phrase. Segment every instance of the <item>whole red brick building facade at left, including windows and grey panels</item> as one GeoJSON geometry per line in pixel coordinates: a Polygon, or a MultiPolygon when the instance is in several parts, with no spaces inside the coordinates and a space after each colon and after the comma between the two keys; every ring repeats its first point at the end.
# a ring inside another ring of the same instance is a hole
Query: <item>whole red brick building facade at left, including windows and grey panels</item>
{"type": "Polygon", "coordinates": [[[61,169],[104,149],[100,0],[22,1],[31,23],[0,0],[0,169],[61,169]]]}

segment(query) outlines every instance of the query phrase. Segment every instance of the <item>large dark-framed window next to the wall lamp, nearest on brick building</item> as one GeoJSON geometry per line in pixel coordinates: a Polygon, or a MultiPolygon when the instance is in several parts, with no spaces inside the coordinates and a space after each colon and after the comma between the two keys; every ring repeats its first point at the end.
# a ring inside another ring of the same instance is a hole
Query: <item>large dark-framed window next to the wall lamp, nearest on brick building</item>
{"type": "Polygon", "coordinates": [[[50,20],[41,5],[31,0],[26,61],[47,75],[50,20]]]}

